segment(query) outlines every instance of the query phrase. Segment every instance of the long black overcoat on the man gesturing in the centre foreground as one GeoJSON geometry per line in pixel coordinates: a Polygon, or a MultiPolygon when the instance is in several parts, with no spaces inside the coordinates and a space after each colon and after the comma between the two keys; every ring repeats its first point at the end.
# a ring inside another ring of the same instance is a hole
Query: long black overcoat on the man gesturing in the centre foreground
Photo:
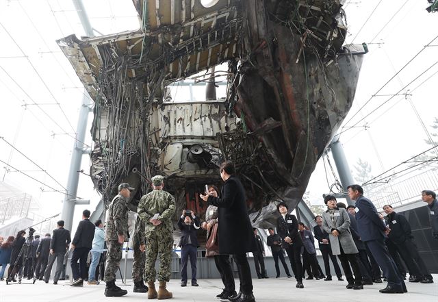
{"type": "Polygon", "coordinates": [[[253,227],[246,208],[246,194],[240,179],[231,175],[225,181],[220,197],[208,197],[218,207],[219,252],[224,255],[257,251],[253,227]]]}

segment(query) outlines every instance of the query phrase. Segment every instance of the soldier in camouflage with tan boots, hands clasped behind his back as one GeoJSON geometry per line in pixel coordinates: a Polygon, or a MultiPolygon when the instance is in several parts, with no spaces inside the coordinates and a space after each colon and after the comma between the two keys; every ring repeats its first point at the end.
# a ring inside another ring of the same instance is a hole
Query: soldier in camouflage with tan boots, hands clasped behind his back
{"type": "Polygon", "coordinates": [[[146,266],[144,276],[148,282],[148,299],[169,299],[172,292],[166,290],[170,279],[170,264],[172,260],[173,225],[175,214],[175,198],[163,190],[164,178],[161,175],[152,177],[153,191],[144,195],[138,204],[138,216],[146,223],[146,266]],[[159,289],[155,290],[155,261],[160,254],[158,271],[159,289]]]}

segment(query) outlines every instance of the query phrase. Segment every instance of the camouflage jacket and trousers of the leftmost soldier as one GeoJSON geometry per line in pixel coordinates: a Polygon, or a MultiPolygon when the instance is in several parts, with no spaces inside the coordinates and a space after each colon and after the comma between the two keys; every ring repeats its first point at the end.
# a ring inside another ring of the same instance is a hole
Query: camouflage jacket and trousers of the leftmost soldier
{"type": "Polygon", "coordinates": [[[107,262],[105,266],[105,282],[116,279],[116,271],[122,259],[122,245],[118,243],[118,235],[128,238],[128,206],[122,195],[114,197],[107,211],[105,240],[107,242],[107,262]]]}

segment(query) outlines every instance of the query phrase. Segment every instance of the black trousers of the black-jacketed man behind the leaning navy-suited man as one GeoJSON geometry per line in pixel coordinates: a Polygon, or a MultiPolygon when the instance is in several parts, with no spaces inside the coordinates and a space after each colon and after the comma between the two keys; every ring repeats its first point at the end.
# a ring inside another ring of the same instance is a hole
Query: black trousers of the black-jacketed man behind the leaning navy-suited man
{"type": "Polygon", "coordinates": [[[404,263],[408,266],[409,273],[417,277],[433,279],[432,275],[424,264],[422,257],[418,253],[417,245],[412,240],[406,240],[396,244],[398,253],[402,256],[404,263]]]}

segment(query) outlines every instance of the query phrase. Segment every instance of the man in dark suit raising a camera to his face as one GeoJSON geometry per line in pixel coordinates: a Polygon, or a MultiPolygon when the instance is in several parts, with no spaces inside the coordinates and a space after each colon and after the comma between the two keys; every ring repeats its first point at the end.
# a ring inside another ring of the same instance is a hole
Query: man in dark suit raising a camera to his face
{"type": "Polygon", "coordinates": [[[187,286],[187,264],[190,258],[190,266],[192,266],[192,286],[198,286],[196,280],[196,253],[198,251],[198,231],[201,224],[193,211],[190,213],[183,210],[183,214],[179,217],[178,227],[181,230],[181,240],[178,246],[181,247],[181,286],[187,286]]]}

